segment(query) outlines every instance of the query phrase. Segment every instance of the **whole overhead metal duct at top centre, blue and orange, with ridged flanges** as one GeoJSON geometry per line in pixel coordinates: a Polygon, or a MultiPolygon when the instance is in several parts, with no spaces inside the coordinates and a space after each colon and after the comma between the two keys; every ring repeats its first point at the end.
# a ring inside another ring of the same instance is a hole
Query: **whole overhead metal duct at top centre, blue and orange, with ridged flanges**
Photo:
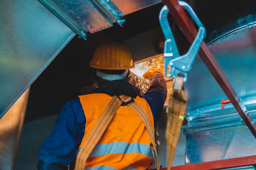
{"type": "Polygon", "coordinates": [[[159,0],[39,0],[75,33],[86,40],[86,33],[95,33],[124,23],[123,16],[157,4],[159,0]]]}

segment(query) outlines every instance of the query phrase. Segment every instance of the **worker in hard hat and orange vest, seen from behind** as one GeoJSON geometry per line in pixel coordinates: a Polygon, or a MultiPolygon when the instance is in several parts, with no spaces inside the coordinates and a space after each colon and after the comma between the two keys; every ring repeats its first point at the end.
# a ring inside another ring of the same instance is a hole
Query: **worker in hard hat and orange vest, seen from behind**
{"type": "Polygon", "coordinates": [[[151,169],[155,156],[149,132],[127,103],[136,102],[144,108],[154,132],[167,94],[162,72],[151,68],[144,74],[152,79],[151,85],[139,96],[139,90],[129,83],[129,69],[134,67],[131,52],[117,43],[97,47],[90,67],[97,69],[93,78],[96,89],[65,103],[53,132],[38,150],[38,169],[74,169],[80,149],[100,115],[113,96],[121,95],[132,100],[122,101],[83,169],[151,169]]]}

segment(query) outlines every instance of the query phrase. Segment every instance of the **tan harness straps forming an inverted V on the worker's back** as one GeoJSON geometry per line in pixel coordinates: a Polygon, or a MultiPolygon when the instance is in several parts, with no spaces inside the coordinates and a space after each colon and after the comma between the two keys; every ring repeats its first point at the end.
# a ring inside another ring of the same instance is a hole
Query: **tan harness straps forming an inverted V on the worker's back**
{"type": "MultiPolygon", "coordinates": [[[[105,111],[103,111],[102,115],[100,115],[100,118],[97,120],[97,123],[92,128],[92,131],[90,132],[87,139],[85,140],[85,143],[82,145],[82,148],[78,152],[78,157],[75,162],[75,170],[85,169],[85,162],[87,158],[89,157],[95,145],[97,145],[97,142],[99,142],[108,125],[110,125],[115,113],[117,113],[117,110],[121,106],[122,102],[124,101],[126,103],[127,101],[130,101],[132,99],[131,97],[124,95],[120,96],[120,98],[121,100],[117,96],[114,96],[110,103],[107,105],[107,108],[105,108],[105,111]]],[[[157,169],[160,169],[159,159],[156,153],[156,144],[154,142],[154,133],[151,128],[149,116],[147,115],[144,108],[139,105],[139,103],[132,102],[129,103],[127,106],[131,107],[132,110],[134,110],[139,115],[139,118],[141,118],[143,123],[145,124],[146,130],[149,132],[149,137],[154,147],[154,152],[156,154],[157,169]]]]}

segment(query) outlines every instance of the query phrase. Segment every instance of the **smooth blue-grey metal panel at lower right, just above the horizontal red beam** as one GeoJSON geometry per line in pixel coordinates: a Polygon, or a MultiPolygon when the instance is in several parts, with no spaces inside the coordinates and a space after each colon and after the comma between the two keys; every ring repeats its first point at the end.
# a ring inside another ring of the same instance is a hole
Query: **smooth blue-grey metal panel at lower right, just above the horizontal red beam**
{"type": "Polygon", "coordinates": [[[246,125],[186,135],[186,164],[255,155],[256,142],[246,125]]]}

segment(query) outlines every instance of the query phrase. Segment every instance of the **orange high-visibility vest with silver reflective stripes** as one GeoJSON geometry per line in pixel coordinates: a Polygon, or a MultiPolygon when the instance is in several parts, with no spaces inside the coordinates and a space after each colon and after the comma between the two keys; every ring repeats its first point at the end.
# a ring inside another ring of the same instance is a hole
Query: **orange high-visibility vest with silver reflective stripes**
{"type": "MultiPolygon", "coordinates": [[[[79,96],[85,113],[85,135],[82,147],[100,115],[112,97],[107,94],[79,96]]],[[[149,104],[137,96],[139,103],[148,113],[154,131],[154,118],[149,104]]],[[[154,164],[154,149],[144,123],[129,106],[120,106],[104,135],[97,142],[85,164],[85,169],[151,169],[154,164]]]]}

